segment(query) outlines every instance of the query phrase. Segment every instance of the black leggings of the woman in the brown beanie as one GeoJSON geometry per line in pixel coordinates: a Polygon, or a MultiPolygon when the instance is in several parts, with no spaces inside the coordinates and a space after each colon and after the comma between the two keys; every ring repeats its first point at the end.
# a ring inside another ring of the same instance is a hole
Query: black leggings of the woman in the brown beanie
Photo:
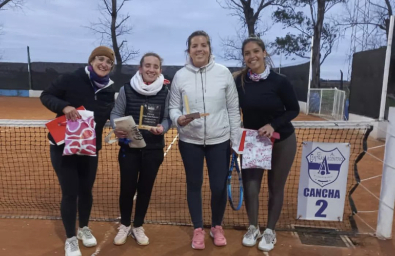
{"type": "Polygon", "coordinates": [[[98,157],[62,156],[63,148],[64,145],[50,145],[50,155],[52,166],[62,188],[61,216],[63,225],[67,238],[71,238],[75,236],[77,204],[80,227],[88,226],[98,157]]]}

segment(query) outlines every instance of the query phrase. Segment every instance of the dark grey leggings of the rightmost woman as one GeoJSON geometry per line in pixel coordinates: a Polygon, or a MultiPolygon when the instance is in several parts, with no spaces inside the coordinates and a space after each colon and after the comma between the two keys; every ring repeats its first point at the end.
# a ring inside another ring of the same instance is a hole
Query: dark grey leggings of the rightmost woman
{"type": "MultiPolygon", "coordinates": [[[[269,204],[267,228],[274,230],[280,218],[284,201],[284,187],[297,150],[293,133],[283,141],[274,143],[271,170],[268,170],[269,204]]],[[[250,225],[258,226],[259,193],[263,169],[242,169],[245,204],[250,225]]]]}

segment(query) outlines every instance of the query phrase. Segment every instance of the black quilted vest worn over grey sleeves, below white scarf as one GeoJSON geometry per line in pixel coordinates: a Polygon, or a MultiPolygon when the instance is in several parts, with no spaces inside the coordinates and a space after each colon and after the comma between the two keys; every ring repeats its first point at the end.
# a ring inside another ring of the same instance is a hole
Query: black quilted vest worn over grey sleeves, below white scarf
{"type": "MultiPolygon", "coordinates": [[[[126,109],[125,116],[132,116],[136,124],[139,124],[140,120],[140,108],[141,105],[145,103],[149,104],[157,104],[161,106],[161,117],[160,123],[163,120],[165,114],[165,104],[166,97],[169,93],[169,89],[164,85],[162,90],[159,91],[156,95],[146,96],[140,93],[137,93],[131,86],[130,83],[126,83],[125,86],[125,95],[126,95],[126,109]]],[[[153,135],[150,131],[141,130],[141,134],[145,140],[147,146],[145,149],[153,150],[153,149],[161,149],[165,147],[165,136],[164,135],[153,135]]]]}

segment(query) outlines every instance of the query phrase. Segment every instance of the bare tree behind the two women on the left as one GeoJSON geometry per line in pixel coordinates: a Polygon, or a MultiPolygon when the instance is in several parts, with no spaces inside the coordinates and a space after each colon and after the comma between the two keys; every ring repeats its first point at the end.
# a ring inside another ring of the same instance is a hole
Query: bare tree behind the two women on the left
{"type": "Polygon", "coordinates": [[[139,50],[134,50],[124,38],[125,35],[131,34],[132,31],[132,27],[127,24],[130,15],[120,13],[125,2],[131,0],[120,1],[119,7],[117,6],[117,0],[100,1],[101,4],[99,6],[102,17],[98,18],[97,23],[91,23],[89,29],[101,36],[101,44],[107,44],[112,47],[115,53],[116,69],[120,72],[124,63],[139,54],[139,50]]]}

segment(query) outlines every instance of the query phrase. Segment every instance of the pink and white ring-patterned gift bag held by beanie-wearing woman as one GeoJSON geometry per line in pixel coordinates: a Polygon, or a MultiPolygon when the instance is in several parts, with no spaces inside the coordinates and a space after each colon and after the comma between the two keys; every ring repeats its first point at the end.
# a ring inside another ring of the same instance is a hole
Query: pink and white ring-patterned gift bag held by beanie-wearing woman
{"type": "Polygon", "coordinates": [[[96,123],[93,112],[79,110],[81,119],[67,120],[63,156],[96,156],[96,123]]]}

